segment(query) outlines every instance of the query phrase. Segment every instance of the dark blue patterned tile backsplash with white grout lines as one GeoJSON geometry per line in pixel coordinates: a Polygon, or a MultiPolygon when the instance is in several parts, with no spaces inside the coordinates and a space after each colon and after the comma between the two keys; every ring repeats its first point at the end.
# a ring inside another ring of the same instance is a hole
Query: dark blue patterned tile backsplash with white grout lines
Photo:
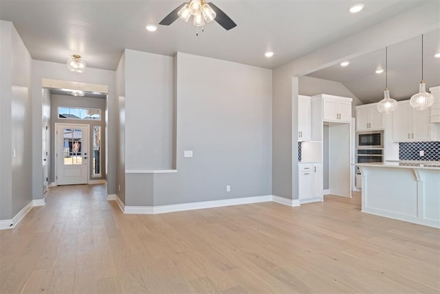
{"type": "Polygon", "coordinates": [[[438,160],[440,142],[402,142],[399,143],[399,160],[438,160]],[[424,156],[420,156],[423,150],[424,156]]]}

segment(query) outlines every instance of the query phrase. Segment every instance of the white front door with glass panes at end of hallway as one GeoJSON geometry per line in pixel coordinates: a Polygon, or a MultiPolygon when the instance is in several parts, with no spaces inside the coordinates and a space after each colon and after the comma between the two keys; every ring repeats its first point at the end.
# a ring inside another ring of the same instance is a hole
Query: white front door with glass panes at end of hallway
{"type": "Polygon", "coordinates": [[[56,185],[87,184],[89,166],[89,126],[56,126],[56,185]]]}

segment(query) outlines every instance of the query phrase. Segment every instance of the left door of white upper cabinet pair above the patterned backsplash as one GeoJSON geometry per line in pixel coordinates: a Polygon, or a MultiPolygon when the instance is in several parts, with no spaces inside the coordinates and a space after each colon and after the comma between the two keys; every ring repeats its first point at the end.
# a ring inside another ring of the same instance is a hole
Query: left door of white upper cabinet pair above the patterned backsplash
{"type": "Polygon", "coordinates": [[[406,142],[411,140],[410,131],[410,103],[399,103],[395,112],[393,112],[393,141],[406,142]]]}

